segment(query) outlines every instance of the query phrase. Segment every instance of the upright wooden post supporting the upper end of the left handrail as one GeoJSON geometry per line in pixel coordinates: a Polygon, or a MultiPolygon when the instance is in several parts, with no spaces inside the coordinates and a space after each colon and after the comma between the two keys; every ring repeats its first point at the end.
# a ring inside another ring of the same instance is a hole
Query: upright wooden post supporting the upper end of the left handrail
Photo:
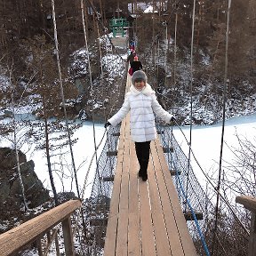
{"type": "Polygon", "coordinates": [[[62,221],[62,229],[66,255],[75,256],[70,216],[62,221]]]}

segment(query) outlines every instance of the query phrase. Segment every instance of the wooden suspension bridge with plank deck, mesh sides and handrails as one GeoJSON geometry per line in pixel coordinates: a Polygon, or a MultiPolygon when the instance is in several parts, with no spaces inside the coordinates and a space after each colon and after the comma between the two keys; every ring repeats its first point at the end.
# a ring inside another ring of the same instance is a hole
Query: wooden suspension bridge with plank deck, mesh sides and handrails
{"type": "MultiPolygon", "coordinates": [[[[52,9],[54,14],[54,8],[52,9]]],[[[82,11],[84,13],[83,8],[82,11]]],[[[56,24],[54,32],[61,82],[56,24]]],[[[84,38],[88,52],[85,27],[84,38]]],[[[193,51],[191,56],[192,53],[193,51]]],[[[193,76],[191,81],[192,79],[193,76]]],[[[130,76],[127,76],[126,90],[130,84],[130,76]]],[[[63,92],[61,96],[65,107],[63,92]]],[[[159,137],[151,142],[148,181],[143,182],[138,179],[139,164],[130,139],[129,125],[127,116],[120,127],[111,127],[108,130],[92,186],[91,202],[97,214],[91,219],[84,216],[83,210],[88,212],[89,207],[80,200],[60,204],[1,235],[1,256],[26,255],[20,253],[31,247],[37,248],[38,255],[47,255],[52,246],[56,255],[60,255],[60,239],[63,239],[64,244],[62,252],[68,256],[229,255],[222,245],[225,242],[230,244],[230,252],[239,250],[241,255],[245,252],[250,256],[255,255],[255,198],[236,197],[237,203],[243,204],[252,212],[249,236],[248,228],[244,228],[227,199],[220,194],[220,188],[215,188],[205,175],[216,195],[222,199],[222,211],[217,213],[221,215],[221,224],[225,227],[221,230],[221,234],[225,235],[223,241],[224,235],[220,236],[214,227],[216,207],[198,183],[189,157],[185,156],[173,136],[172,127],[159,124],[159,137]],[[88,223],[91,228],[90,237],[88,223]],[[239,248],[236,247],[236,239],[230,239],[234,230],[243,237],[239,248]],[[77,244],[79,249],[76,248],[77,244]]],[[[69,137],[68,134],[70,140],[69,137]]],[[[71,147],[70,151],[73,156],[71,147]]],[[[77,194],[80,197],[79,191],[77,194]]]]}

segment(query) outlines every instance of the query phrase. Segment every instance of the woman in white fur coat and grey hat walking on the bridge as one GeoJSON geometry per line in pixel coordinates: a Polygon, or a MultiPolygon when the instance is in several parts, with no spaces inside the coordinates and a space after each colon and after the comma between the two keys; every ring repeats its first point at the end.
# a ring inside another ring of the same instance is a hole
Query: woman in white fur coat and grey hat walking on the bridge
{"type": "Polygon", "coordinates": [[[119,124],[130,110],[131,137],[135,142],[136,155],[140,164],[139,177],[146,181],[148,180],[150,141],[156,139],[154,113],[167,123],[174,121],[175,118],[158,103],[156,92],[147,83],[147,76],[141,70],[133,73],[132,86],[130,92],[125,95],[123,106],[116,115],[108,119],[104,125],[105,128],[108,125],[119,124]]]}

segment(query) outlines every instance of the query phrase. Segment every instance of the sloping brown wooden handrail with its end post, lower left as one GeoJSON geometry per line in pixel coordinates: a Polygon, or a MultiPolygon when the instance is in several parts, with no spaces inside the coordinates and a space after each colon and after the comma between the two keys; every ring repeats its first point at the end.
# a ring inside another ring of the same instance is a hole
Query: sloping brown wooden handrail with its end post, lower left
{"type": "MultiPolygon", "coordinates": [[[[73,247],[73,239],[71,237],[72,232],[70,232],[69,218],[80,206],[81,201],[70,200],[0,235],[0,255],[4,256],[19,252],[25,245],[40,239],[60,222],[63,225],[63,233],[66,233],[64,234],[65,251],[67,248],[70,252],[73,247]]],[[[73,255],[73,253],[71,252],[71,254],[67,255],[73,255]]]]}

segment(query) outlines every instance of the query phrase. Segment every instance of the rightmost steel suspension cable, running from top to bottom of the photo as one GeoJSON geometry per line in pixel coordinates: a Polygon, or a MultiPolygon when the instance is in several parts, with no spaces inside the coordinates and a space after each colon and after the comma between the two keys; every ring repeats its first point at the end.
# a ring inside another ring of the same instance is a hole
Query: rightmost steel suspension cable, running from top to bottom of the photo
{"type": "MultiPolygon", "coordinates": [[[[224,73],[224,88],[223,88],[223,103],[222,103],[222,131],[221,131],[221,142],[220,142],[220,164],[219,164],[219,175],[218,175],[218,185],[217,190],[220,192],[220,179],[221,179],[221,168],[222,168],[222,156],[223,156],[223,145],[224,145],[224,132],[225,132],[225,121],[226,121],[226,102],[227,102],[227,79],[228,79],[228,34],[229,34],[229,20],[230,20],[230,7],[231,0],[228,0],[228,17],[227,17],[227,30],[226,30],[226,49],[225,49],[225,73],[224,73]]],[[[216,208],[215,208],[215,223],[214,232],[212,238],[212,255],[214,252],[214,245],[216,239],[216,232],[218,227],[219,219],[219,201],[220,194],[217,194],[216,198],[216,208]]]]}

